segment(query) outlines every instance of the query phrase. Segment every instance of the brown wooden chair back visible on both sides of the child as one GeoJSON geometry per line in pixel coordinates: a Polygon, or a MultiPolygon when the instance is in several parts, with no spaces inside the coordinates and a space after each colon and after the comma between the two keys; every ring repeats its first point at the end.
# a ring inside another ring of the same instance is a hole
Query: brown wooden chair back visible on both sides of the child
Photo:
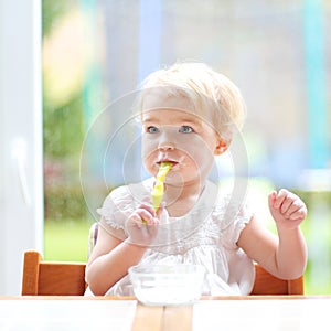
{"type": "MultiPolygon", "coordinates": [[[[36,250],[24,253],[22,296],[83,296],[84,263],[45,261],[36,250]]],[[[254,296],[303,295],[303,277],[295,280],[278,279],[255,265],[254,296]]]]}

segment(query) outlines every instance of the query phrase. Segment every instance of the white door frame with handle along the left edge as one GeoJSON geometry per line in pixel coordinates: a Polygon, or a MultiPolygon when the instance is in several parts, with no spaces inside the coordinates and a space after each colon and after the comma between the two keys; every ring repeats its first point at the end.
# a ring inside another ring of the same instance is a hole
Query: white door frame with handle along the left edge
{"type": "Polygon", "coordinates": [[[41,0],[0,0],[0,295],[43,249],[41,0]]]}

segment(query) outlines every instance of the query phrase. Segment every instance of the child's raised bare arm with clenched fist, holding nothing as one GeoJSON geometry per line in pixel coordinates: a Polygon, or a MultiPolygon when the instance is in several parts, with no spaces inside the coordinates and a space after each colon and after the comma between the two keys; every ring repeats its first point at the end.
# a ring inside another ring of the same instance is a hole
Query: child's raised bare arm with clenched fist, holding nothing
{"type": "Polygon", "coordinates": [[[278,238],[253,217],[242,231],[238,246],[276,277],[297,278],[307,264],[307,246],[299,228],[307,216],[306,205],[293,193],[280,190],[269,194],[269,209],[278,238]]]}

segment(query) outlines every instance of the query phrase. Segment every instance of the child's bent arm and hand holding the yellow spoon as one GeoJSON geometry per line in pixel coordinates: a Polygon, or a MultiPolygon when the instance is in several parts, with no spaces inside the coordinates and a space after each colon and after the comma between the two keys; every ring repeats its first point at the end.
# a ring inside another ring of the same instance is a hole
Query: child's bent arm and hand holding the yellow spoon
{"type": "Polygon", "coordinates": [[[86,282],[94,295],[105,295],[127,275],[129,267],[140,261],[157,235],[159,222],[156,216],[153,207],[142,203],[127,221],[129,237],[125,241],[120,239],[124,237],[121,229],[116,236],[99,227],[96,245],[86,266],[86,282]]]}

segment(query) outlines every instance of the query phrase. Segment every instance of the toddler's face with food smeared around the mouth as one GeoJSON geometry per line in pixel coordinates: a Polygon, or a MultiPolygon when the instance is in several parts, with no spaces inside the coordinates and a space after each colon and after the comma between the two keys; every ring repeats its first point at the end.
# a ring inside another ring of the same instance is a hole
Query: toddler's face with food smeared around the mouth
{"type": "Polygon", "coordinates": [[[169,183],[205,180],[214,156],[226,149],[209,118],[196,116],[184,97],[162,93],[146,96],[141,119],[145,168],[156,175],[162,161],[173,162],[167,177],[169,183]]]}

